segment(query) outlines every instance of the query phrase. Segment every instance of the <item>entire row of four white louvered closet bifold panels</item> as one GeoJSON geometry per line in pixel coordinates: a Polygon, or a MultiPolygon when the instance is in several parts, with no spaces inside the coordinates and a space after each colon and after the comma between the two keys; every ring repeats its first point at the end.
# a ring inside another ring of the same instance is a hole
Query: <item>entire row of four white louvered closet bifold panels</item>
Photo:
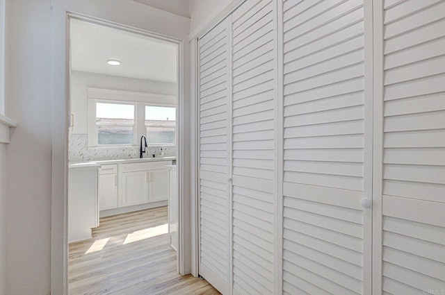
{"type": "Polygon", "coordinates": [[[445,0],[247,0],[198,57],[200,275],[445,294],[445,0]]]}

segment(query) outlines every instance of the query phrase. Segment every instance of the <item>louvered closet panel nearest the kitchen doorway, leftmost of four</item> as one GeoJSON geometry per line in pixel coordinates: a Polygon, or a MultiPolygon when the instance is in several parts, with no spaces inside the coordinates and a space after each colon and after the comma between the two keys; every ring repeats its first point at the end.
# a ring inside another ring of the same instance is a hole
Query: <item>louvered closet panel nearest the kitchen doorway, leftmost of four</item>
{"type": "Polygon", "coordinates": [[[229,32],[227,19],[199,42],[200,275],[229,291],[229,32]]]}

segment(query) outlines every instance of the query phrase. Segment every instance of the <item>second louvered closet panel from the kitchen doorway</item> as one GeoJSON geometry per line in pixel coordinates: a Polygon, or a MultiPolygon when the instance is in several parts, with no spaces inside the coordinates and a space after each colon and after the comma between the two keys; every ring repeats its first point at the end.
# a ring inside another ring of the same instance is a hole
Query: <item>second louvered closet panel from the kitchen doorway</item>
{"type": "Polygon", "coordinates": [[[233,289],[273,294],[273,1],[232,15],[233,289]]]}

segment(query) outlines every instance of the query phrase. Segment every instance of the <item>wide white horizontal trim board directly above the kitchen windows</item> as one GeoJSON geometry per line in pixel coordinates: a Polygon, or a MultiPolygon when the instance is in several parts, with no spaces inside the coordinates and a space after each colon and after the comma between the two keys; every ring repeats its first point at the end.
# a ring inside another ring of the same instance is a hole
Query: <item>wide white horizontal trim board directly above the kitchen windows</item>
{"type": "Polygon", "coordinates": [[[129,101],[149,103],[150,105],[176,106],[176,96],[166,94],[154,94],[145,92],[133,92],[88,87],[88,99],[103,99],[106,101],[129,101]]]}

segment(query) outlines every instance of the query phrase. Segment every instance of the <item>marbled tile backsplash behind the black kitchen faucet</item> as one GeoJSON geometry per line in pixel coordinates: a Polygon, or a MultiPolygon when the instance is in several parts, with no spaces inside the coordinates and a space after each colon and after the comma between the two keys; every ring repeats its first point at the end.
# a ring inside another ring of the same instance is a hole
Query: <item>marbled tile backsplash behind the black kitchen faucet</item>
{"type": "MultiPolygon", "coordinates": [[[[172,156],[176,153],[175,146],[149,146],[145,149],[144,158],[152,158],[152,154],[156,154],[156,157],[159,157],[158,154],[161,147],[163,148],[164,156],[172,156]]],[[[88,137],[86,134],[70,134],[68,153],[70,162],[131,159],[139,158],[139,146],[88,148],[88,137]]]]}

